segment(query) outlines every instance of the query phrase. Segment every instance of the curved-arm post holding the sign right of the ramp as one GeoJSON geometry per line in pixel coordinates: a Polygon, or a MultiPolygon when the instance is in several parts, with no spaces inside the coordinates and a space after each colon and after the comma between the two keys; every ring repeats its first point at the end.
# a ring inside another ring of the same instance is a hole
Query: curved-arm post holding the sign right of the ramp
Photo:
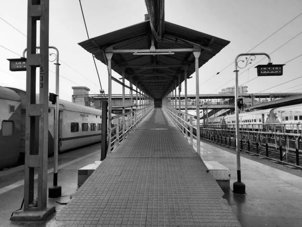
{"type": "Polygon", "coordinates": [[[252,64],[252,61],[256,59],[255,55],[265,55],[268,58],[269,64],[271,64],[270,56],[267,53],[241,53],[238,54],[235,58],[235,113],[236,113],[236,150],[237,150],[237,182],[233,184],[234,193],[245,194],[245,184],[241,182],[241,167],[240,167],[240,133],[239,133],[239,106],[238,106],[238,68],[244,69],[249,64],[252,64]],[[246,60],[239,60],[240,56],[249,56],[246,57],[246,60]],[[239,62],[245,62],[246,64],[243,67],[239,67],[239,62]]]}

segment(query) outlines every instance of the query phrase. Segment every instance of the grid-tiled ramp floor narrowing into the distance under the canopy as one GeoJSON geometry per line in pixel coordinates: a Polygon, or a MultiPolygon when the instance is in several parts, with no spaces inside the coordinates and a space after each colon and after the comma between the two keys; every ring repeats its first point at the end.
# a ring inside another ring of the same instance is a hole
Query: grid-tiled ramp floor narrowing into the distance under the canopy
{"type": "Polygon", "coordinates": [[[162,109],[110,154],[56,216],[74,226],[240,226],[162,109]]]}

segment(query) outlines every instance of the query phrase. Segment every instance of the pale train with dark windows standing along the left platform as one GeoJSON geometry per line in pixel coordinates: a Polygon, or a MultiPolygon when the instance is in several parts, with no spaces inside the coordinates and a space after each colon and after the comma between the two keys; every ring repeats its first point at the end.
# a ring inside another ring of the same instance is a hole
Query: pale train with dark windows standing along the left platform
{"type": "MultiPolygon", "coordinates": [[[[36,103],[38,100],[39,95],[36,95],[36,103]]],[[[55,105],[49,102],[48,106],[48,155],[52,155],[55,105]]],[[[25,109],[25,91],[0,86],[0,168],[14,165],[18,159],[24,160],[25,109]]],[[[100,142],[101,116],[102,110],[59,99],[59,152],[100,142]]],[[[112,114],[112,116],[116,115],[112,114]]],[[[118,121],[115,119],[112,127],[117,125],[118,121]]],[[[38,140],[37,134],[36,145],[38,140]]]]}

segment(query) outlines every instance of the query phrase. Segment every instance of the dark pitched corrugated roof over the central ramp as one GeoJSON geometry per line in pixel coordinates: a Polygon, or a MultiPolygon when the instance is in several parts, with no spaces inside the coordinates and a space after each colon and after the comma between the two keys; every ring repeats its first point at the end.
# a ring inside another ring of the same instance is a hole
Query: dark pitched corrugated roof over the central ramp
{"type": "MultiPolygon", "coordinates": [[[[162,98],[173,84],[195,72],[193,51],[200,50],[199,68],[230,41],[165,21],[161,42],[152,34],[149,20],[80,42],[96,59],[107,64],[113,52],[112,69],[153,98],[162,98]],[[155,53],[155,54],[152,54],[155,53]]],[[[116,81],[116,79],[112,78],[116,81]]]]}

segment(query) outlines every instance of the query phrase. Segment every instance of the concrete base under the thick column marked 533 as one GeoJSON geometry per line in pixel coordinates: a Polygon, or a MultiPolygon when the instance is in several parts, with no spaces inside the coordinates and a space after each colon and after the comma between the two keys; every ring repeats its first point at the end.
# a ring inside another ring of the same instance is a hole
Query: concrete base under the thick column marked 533
{"type": "Polygon", "coordinates": [[[55,212],[55,207],[46,208],[44,210],[33,210],[33,211],[16,211],[11,220],[12,221],[42,221],[45,218],[49,217],[55,212]]]}

